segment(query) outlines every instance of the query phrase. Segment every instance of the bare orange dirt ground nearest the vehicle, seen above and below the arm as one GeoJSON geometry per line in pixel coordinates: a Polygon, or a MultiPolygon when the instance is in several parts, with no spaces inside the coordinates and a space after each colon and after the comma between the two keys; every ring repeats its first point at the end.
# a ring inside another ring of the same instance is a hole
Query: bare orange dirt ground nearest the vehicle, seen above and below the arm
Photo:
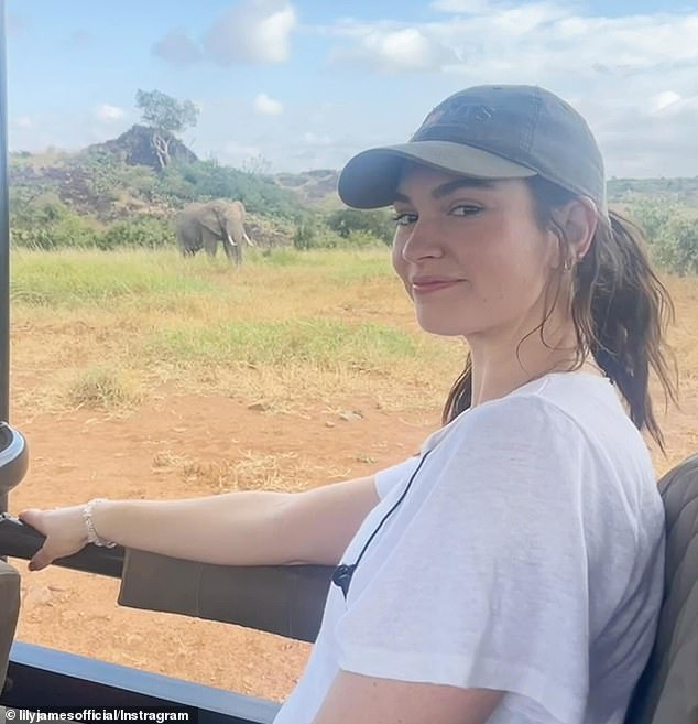
{"type": "MultiPolygon", "coordinates": [[[[26,383],[28,380],[22,380],[26,383]]],[[[261,485],[298,487],[367,475],[412,454],[438,412],[386,413],[372,400],[273,414],[226,397],[161,390],[128,415],[15,409],[31,468],[10,510],[102,496],[183,498],[221,491],[230,461],[261,485]],[[255,462],[257,461],[257,462],[255,462]]],[[[235,471],[233,471],[235,472],[235,471]]],[[[117,605],[119,582],[51,568],[22,572],[18,639],[282,701],[309,646],[241,627],[117,605]]]]}

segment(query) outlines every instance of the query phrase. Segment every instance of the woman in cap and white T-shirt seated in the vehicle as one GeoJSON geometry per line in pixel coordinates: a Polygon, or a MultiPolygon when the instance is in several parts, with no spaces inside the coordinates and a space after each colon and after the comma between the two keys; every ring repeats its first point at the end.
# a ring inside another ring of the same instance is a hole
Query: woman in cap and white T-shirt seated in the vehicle
{"type": "Polygon", "coordinates": [[[664,515],[641,431],[674,398],[672,311],[609,213],[584,119],[530,86],[447,98],[345,168],[394,205],[425,331],[469,354],[444,426],[374,477],[301,494],[91,501],[23,520],[35,570],[86,542],[227,564],[338,564],[277,724],[615,724],[654,639],[664,515]]]}

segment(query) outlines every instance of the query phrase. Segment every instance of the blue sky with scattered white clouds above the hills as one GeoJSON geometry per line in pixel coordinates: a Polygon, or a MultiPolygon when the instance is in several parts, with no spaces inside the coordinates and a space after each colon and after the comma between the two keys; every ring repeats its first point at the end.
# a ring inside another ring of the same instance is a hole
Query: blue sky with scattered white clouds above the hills
{"type": "Polygon", "coordinates": [[[698,4],[667,0],[6,0],[10,149],[138,122],[138,88],[200,107],[200,158],[340,168],[441,98],[533,83],[589,120],[609,176],[698,175],[698,4]]]}

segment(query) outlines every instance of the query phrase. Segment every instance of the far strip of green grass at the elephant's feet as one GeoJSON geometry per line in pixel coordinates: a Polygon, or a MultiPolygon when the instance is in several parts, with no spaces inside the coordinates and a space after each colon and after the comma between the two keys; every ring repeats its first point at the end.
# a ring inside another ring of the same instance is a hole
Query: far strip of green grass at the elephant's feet
{"type": "MultiPolygon", "coordinates": [[[[17,303],[76,307],[106,302],[149,299],[160,304],[167,299],[229,294],[235,289],[282,283],[276,270],[295,270],[304,280],[347,283],[382,279],[390,273],[388,252],[346,250],[301,252],[275,249],[251,252],[242,270],[229,267],[222,255],[214,260],[203,253],[182,259],[173,249],[62,250],[55,252],[15,249],[12,252],[11,296],[17,303]]],[[[287,278],[288,282],[293,278],[287,278]]],[[[301,281],[297,279],[297,281],[301,281]]]]}

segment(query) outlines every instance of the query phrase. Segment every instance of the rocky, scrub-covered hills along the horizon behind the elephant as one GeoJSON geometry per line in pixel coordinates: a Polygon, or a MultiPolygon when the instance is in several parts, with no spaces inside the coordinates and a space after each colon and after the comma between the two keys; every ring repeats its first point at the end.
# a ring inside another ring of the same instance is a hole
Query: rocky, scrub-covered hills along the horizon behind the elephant
{"type": "MultiPolygon", "coordinates": [[[[338,172],[317,169],[265,176],[200,161],[172,134],[133,126],[116,139],[77,153],[12,154],[14,203],[55,194],[73,212],[110,223],[133,215],[167,218],[190,201],[240,198],[252,214],[298,220],[306,214],[341,208],[338,172]],[[156,138],[160,137],[160,138],[156,138]],[[163,138],[168,162],[162,168],[163,138]]],[[[645,197],[669,198],[698,209],[694,179],[612,179],[609,201],[623,207],[645,197]]]]}

